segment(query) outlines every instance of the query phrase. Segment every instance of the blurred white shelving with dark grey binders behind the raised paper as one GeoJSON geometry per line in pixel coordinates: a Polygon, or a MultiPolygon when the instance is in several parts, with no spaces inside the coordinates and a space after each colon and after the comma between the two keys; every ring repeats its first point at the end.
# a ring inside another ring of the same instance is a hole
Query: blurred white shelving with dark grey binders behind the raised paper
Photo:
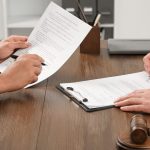
{"type": "MultiPolygon", "coordinates": [[[[74,15],[79,14],[75,0],[53,0],[74,15]]],[[[12,34],[29,35],[51,0],[0,0],[0,39],[12,34]]],[[[102,38],[113,37],[114,0],[79,0],[89,22],[102,14],[102,38]]]]}

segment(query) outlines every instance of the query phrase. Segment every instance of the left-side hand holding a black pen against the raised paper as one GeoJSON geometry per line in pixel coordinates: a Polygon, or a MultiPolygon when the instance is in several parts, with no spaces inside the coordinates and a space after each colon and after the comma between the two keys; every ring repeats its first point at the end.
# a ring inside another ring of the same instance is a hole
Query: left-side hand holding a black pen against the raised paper
{"type": "Polygon", "coordinates": [[[10,92],[24,88],[26,85],[38,80],[43,59],[38,55],[26,54],[8,67],[0,75],[0,92],[10,92]]]}

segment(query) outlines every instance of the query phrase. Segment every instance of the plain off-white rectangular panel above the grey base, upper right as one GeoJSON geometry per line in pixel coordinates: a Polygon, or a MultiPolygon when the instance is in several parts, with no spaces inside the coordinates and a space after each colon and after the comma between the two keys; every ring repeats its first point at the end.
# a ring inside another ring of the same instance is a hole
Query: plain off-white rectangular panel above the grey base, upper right
{"type": "Polygon", "coordinates": [[[114,38],[150,39],[150,0],[115,0],[114,38]]]}

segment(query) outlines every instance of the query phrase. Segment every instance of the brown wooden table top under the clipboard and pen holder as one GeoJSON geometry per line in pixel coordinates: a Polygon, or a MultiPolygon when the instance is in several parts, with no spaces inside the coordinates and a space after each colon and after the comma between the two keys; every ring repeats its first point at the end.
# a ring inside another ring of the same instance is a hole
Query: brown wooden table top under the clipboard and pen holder
{"type": "MultiPolygon", "coordinates": [[[[0,95],[0,150],[116,150],[131,113],[117,108],[87,113],[55,86],[143,70],[143,55],[109,56],[77,50],[52,77],[33,88],[0,95]]],[[[147,118],[149,116],[147,115],[147,118]]]]}

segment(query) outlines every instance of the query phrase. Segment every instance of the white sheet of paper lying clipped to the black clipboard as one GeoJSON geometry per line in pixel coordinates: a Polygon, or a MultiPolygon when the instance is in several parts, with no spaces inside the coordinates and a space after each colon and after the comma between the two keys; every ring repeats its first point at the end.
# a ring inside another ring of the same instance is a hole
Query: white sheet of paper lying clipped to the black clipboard
{"type": "Polygon", "coordinates": [[[89,108],[97,108],[114,105],[117,98],[135,90],[150,88],[150,80],[146,72],[138,72],[60,85],[79,101],[87,98],[88,102],[83,103],[89,108]],[[67,90],[67,87],[72,87],[74,91],[67,90]]]}

